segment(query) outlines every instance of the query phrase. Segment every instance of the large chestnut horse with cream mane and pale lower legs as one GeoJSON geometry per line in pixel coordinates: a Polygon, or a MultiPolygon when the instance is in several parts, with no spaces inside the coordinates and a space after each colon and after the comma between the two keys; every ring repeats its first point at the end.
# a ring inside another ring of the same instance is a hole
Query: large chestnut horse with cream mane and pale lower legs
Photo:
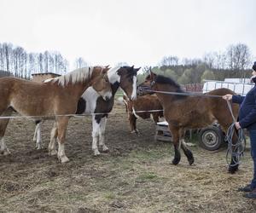
{"type": "MultiPolygon", "coordinates": [[[[85,89],[92,87],[106,101],[112,98],[112,89],[108,81],[108,66],[93,66],[77,69],[46,83],[35,83],[20,78],[0,78],[0,115],[9,115],[12,110],[32,119],[54,118],[58,131],[57,157],[61,163],[69,159],[66,156],[64,141],[69,116],[77,110],[80,96],[85,89]]],[[[0,119],[1,151],[9,150],[3,140],[9,118],[0,119]]],[[[52,154],[56,154],[56,151],[52,154]]]]}

